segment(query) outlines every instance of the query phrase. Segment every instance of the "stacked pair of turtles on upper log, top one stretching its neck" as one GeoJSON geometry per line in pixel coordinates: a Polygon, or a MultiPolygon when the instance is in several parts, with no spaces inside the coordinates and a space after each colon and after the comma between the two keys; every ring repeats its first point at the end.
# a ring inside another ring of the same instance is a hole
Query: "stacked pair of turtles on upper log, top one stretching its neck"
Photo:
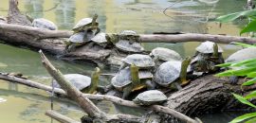
{"type": "Polygon", "coordinates": [[[93,19],[83,18],[73,27],[74,34],[65,41],[66,52],[72,52],[76,47],[90,42],[101,31],[97,18],[97,14],[94,15],[93,19]]]}

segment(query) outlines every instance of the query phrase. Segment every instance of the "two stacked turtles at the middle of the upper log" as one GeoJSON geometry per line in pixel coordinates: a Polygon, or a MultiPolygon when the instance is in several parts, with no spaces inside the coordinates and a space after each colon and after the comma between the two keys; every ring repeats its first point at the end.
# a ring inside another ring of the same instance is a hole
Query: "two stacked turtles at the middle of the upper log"
{"type": "Polygon", "coordinates": [[[124,30],[119,34],[107,34],[106,39],[121,51],[134,53],[144,51],[144,48],[139,44],[139,36],[132,30],[124,30]]]}

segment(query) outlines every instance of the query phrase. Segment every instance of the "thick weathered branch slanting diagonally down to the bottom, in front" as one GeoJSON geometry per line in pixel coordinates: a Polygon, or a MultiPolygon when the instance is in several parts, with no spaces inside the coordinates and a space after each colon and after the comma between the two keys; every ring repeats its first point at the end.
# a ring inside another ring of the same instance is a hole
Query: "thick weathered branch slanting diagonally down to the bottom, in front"
{"type": "Polygon", "coordinates": [[[51,62],[49,62],[42,52],[39,51],[42,62],[46,67],[47,72],[60,84],[60,86],[66,92],[67,97],[70,97],[74,101],[76,101],[82,108],[82,110],[88,114],[90,118],[101,120],[101,122],[141,122],[141,118],[135,115],[130,114],[105,114],[98,107],[94,105],[94,103],[88,99],[87,97],[82,96],[82,92],[80,92],[77,88],[75,88],[70,82],[64,79],[61,71],[56,69],[51,62]]]}

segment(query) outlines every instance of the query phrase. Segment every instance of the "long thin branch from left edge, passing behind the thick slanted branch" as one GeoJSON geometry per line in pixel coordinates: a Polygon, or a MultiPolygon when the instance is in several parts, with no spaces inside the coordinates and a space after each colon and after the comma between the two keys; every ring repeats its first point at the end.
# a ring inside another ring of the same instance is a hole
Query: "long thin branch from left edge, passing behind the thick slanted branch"
{"type": "MultiPolygon", "coordinates": [[[[16,78],[14,76],[10,76],[8,74],[5,73],[0,73],[0,79],[5,79],[8,81],[12,81],[12,82],[17,82],[20,84],[24,84],[33,88],[38,88],[38,89],[42,89],[48,92],[52,91],[52,87],[47,86],[45,84],[42,83],[38,83],[29,79],[21,79],[21,78],[16,78]]],[[[59,89],[59,88],[55,88],[54,89],[54,93],[55,94],[60,94],[60,95],[66,95],[66,93],[64,92],[64,90],[59,89]]],[[[184,114],[180,114],[176,111],[174,111],[173,109],[170,109],[168,107],[164,107],[164,106],[160,106],[160,105],[153,105],[150,107],[141,107],[137,104],[135,104],[133,101],[129,101],[129,100],[124,100],[121,99],[119,97],[113,97],[113,96],[104,96],[104,95],[90,95],[90,94],[82,94],[82,97],[88,97],[91,100],[108,100],[111,102],[114,102],[116,104],[122,105],[122,106],[127,106],[127,107],[133,107],[133,108],[141,108],[141,109],[145,109],[145,110],[152,110],[155,111],[156,113],[163,113],[163,114],[170,114],[173,115],[174,117],[178,118],[178,119],[183,119],[184,121],[193,121],[192,118],[190,118],[189,116],[186,116],[184,114]]]]}

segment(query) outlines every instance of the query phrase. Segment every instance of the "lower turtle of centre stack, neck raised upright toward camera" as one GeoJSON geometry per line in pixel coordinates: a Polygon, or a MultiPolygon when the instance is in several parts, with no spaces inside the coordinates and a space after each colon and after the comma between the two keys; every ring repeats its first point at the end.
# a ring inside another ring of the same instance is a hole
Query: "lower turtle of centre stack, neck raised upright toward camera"
{"type": "Polygon", "coordinates": [[[138,71],[138,68],[135,64],[131,64],[130,67],[125,67],[120,70],[119,73],[111,79],[111,84],[117,90],[123,92],[122,98],[129,96],[131,92],[140,90],[142,88],[148,87],[150,89],[154,88],[152,81],[153,75],[148,74],[145,71],[138,71]]]}

